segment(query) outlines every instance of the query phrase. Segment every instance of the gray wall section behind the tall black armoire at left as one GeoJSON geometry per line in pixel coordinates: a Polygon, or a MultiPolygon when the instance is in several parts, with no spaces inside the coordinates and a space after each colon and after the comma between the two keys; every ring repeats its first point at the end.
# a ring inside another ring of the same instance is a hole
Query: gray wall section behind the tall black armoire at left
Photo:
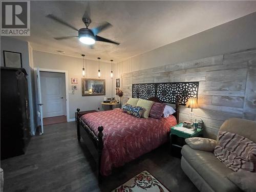
{"type": "Polygon", "coordinates": [[[15,38],[1,36],[1,66],[4,66],[3,51],[13,51],[22,53],[22,65],[28,73],[28,92],[29,92],[29,108],[30,108],[30,126],[31,133],[35,132],[35,114],[34,114],[34,71],[33,63],[30,63],[30,46],[26,41],[15,38]]]}

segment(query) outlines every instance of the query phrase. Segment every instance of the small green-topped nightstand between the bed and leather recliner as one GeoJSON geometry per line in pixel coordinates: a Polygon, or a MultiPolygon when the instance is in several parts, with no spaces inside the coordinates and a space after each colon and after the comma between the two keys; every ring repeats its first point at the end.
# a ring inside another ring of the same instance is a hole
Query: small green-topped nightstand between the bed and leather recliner
{"type": "MultiPolygon", "coordinates": [[[[180,126],[182,127],[183,126],[183,123],[179,123],[176,125],[177,126],[180,126]]],[[[203,135],[203,130],[202,129],[197,129],[197,131],[195,131],[193,134],[189,134],[189,133],[185,133],[185,132],[182,132],[182,131],[179,131],[179,130],[176,130],[175,127],[173,126],[171,129],[170,129],[170,153],[172,154],[172,151],[173,151],[173,146],[176,146],[176,147],[180,147],[182,148],[183,145],[185,145],[185,139],[186,138],[189,138],[189,137],[200,137],[203,135]],[[175,143],[174,142],[174,137],[178,137],[178,138],[182,138],[181,140],[181,144],[178,144],[178,143],[175,143]]]]}

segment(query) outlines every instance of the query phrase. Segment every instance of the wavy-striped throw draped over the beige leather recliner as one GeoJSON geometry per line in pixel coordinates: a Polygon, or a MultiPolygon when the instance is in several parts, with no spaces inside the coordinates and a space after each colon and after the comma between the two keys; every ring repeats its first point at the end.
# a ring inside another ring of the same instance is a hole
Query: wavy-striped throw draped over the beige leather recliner
{"type": "Polygon", "coordinates": [[[234,172],[247,170],[255,172],[256,143],[230,132],[219,132],[219,145],[214,155],[234,172]]]}

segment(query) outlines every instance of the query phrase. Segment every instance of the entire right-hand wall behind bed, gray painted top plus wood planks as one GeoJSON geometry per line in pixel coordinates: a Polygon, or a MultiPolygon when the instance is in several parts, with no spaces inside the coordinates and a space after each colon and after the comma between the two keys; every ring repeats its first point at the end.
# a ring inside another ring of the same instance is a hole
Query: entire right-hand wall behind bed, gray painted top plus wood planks
{"type": "MultiPolygon", "coordinates": [[[[252,13],[126,59],[114,71],[125,97],[132,96],[132,83],[200,81],[194,113],[205,122],[205,136],[214,138],[230,117],[256,120],[255,34],[252,13]]],[[[182,106],[180,120],[188,120],[188,113],[182,106]]]]}

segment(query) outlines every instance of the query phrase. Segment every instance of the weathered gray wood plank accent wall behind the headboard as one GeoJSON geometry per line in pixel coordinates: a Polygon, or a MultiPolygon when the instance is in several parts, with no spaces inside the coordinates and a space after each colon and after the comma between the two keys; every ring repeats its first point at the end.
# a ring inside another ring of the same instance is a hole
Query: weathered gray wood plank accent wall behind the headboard
{"type": "MultiPolygon", "coordinates": [[[[123,73],[123,102],[132,97],[133,83],[182,81],[200,81],[200,109],[193,111],[195,118],[204,121],[205,137],[216,138],[228,118],[256,120],[256,48],[123,73]]],[[[181,106],[180,121],[188,120],[189,112],[181,106]]]]}

